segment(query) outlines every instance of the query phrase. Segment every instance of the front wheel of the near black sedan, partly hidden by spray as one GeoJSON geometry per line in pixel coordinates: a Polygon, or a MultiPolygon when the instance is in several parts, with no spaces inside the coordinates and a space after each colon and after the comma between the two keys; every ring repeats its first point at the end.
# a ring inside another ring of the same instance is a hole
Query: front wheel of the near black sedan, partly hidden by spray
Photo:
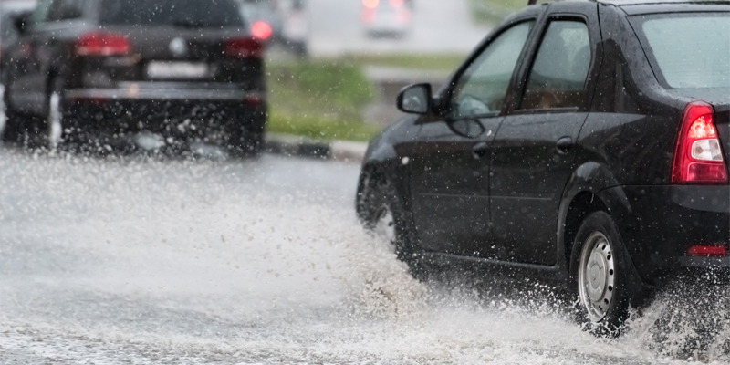
{"type": "Polygon", "coordinates": [[[358,199],[358,215],[372,235],[391,242],[399,260],[408,265],[412,276],[424,281],[427,272],[419,259],[421,250],[415,243],[409,214],[390,181],[378,174],[369,174],[358,199]]]}

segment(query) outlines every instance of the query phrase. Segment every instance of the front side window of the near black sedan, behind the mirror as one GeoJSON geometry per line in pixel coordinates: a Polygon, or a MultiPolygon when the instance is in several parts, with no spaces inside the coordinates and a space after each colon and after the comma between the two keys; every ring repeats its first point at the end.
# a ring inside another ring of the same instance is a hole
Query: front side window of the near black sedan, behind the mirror
{"type": "Polygon", "coordinates": [[[509,81],[535,21],[508,28],[474,59],[455,82],[449,118],[459,119],[498,113],[505,102],[509,81]]]}

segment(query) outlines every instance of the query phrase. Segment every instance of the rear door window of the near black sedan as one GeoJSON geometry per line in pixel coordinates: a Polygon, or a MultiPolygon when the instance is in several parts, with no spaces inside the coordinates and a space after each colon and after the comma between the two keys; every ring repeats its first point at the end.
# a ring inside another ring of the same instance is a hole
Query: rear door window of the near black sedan
{"type": "Polygon", "coordinates": [[[583,106],[590,59],[590,40],[585,23],[569,20],[550,22],[530,70],[520,109],[583,106]]]}

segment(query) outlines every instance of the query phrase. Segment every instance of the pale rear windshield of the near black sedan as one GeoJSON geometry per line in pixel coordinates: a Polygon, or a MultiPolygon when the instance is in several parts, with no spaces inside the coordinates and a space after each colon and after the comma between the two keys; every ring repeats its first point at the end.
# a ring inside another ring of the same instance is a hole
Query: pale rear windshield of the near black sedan
{"type": "Polygon", "coordinates": [[[647,16],[640,22],[643,47],[666,86],[730,88],[730,16],[647,16]]]}

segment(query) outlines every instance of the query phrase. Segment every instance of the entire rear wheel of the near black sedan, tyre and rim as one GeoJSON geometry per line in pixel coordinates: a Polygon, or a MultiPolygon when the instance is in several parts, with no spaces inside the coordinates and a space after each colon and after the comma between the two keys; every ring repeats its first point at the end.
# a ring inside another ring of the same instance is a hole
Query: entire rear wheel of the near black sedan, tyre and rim
{"type": "Polygon", "coordinates": [[[610,215],[596,212],[580,225],[570,265],[581,324],[600,337],[620,335],[629,316],[634,271],[610,215]]]}

